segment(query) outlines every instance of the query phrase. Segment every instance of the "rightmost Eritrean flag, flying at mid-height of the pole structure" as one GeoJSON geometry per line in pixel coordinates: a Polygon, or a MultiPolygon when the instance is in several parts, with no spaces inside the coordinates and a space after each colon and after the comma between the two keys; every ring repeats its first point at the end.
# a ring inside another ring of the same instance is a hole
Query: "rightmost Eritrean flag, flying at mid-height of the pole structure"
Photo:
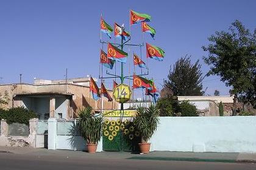
{"type": "Polygon", "coordinates": [[[146,43],[146,53],[147,58],[154,58],[158,61],[163,61],[163,56],[165,52],[157,46],[152,46],[151,44],[146,43]]]}

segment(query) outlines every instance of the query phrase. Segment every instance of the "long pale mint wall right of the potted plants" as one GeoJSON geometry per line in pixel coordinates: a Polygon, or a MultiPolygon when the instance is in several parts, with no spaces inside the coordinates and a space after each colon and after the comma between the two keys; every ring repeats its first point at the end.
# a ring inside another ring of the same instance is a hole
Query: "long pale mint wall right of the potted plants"
{"type": "Polygon", "coordinates": [[[256,117],[160,117],[151,151],[256,152],[256,117]]]}

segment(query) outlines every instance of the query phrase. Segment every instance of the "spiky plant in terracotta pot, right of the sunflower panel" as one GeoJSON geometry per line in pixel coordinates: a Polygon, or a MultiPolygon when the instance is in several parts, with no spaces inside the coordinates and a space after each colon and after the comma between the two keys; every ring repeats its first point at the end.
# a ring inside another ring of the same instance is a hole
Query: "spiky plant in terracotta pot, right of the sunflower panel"
{"type": "Polygon", "coordinates": [[[157,124],[159,123],[158,111],[155,105],[150,104],[148,108],[138,106],[137,116],[133,123],[141,134],[141,143],[139,143],[140,152],[148,154],[151,146],[151,143],[148,143],[148,140],[154,134],[157,129],[157,124]]]}

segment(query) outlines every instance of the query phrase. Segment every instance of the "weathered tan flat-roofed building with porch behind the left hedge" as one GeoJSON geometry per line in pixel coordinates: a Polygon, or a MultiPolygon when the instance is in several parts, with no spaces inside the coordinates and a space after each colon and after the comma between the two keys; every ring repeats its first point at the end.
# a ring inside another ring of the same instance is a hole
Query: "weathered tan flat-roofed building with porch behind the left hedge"
{"type": "MultiPolygon", "coordinates": [[[[97,81],[94,78],[95,81],[97,81]]],[[[0,93],[6,91],[9,103],[2,107],[10,108],[24,106],[34,110],[40,119],[76,118],[77,111],[84,106],[94,110],[115,109],[118,104],[108,102],[107,98],[95,101],[90,95],[90,78],[73,78],[66,80],[35,80],[34,84],[0,84],[0,93]]],[[[112,95],[112,91],[108,90],[112,95]]]]}

